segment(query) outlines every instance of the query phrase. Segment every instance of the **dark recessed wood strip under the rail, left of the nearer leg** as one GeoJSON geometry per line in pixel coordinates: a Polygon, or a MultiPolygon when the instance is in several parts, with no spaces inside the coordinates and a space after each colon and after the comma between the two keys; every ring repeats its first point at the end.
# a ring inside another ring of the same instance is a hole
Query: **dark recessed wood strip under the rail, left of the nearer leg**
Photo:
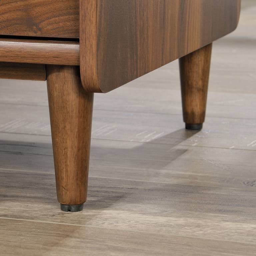
{"type": "Polygon", "coordinates": [[[0,78],[45,81],[45,65],[0,62],[0,78]]]}

